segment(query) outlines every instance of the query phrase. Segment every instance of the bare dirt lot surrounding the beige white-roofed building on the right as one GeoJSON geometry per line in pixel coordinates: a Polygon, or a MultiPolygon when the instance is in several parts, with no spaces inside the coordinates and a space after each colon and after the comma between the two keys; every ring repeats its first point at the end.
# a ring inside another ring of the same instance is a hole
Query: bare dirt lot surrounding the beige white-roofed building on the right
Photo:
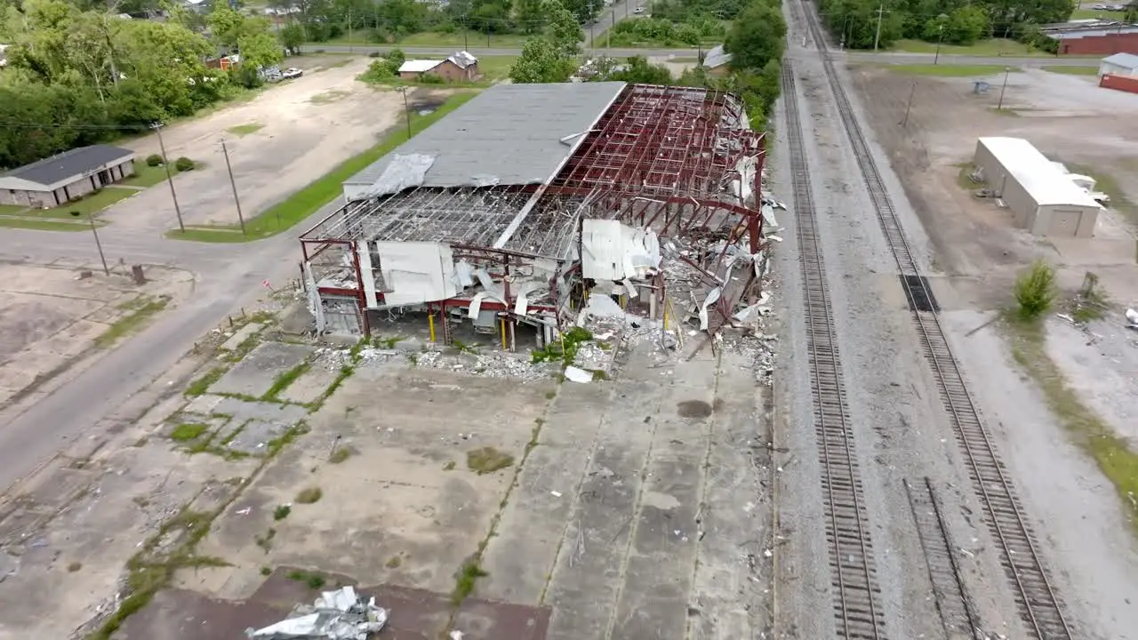
{"type": "Polygon", "coordinates": [[[1090,269],[1115,300],[1138,298],[1131,277],[1138,211],[1120,203],[1118,194],[1120,206],[1099,216],[1096,239],[1048,241],[1014,229],[1006,211],[973,198],[958,183],[976,138],[1009,136],[1030,140],[1072,171],[1089,171],[1100,187],[1116,183],[1138,200],[1138,122],[1130,117],[1138,96],[1098,89],[1092,77],[1029,69],[1009,75],[1004,110],[997,112],[1001,76],[983,79],[991,89],[976,96],[971,77],[912,76],[872,66],[852,68],[850,75],[929,230],[939,266],[959,277],[954,286],[963,306],[1003,305],[1015,271],[1037,256],[1069,266],[1062,269],[1064,285],[1078,286],[1090,269]],[[910,92],[912,112],[901,128],[910,92]]]}

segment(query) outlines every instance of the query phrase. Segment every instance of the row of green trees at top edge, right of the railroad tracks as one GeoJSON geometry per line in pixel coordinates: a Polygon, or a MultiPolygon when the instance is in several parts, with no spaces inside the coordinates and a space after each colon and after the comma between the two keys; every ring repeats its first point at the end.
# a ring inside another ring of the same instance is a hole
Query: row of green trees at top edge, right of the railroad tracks
{"type": "Polygon", "coordinates": [[[901,39],[972,44],[1013,38],[1054,50],[1039,25],[1064,22],[1069,0],[819,0],[819,11],[836,40],[851,49],[884,48],[901,39]]]}

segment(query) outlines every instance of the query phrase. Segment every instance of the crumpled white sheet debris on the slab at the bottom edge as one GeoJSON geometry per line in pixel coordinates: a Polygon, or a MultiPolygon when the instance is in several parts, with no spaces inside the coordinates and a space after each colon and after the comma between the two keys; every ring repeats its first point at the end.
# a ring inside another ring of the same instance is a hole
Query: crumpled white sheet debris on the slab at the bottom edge
{"type": "Polygon", "coordinates": [[[345,586],[324,591],[310,607],[300,605],[277,624],[245,630],[253,640],[366,640],[387,624],[387,609],[376,606],[376,599],[356,596],[345,586]]]}

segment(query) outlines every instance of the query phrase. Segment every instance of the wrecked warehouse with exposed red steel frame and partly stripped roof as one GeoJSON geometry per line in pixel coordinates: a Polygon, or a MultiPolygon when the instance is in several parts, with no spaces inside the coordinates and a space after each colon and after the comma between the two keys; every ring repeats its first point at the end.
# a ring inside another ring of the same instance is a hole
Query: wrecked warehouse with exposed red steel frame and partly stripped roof
{"type": "MultiPolygon", "coordinates": [[[[716,334],[767,268],[762,134],[737,96],[622,82],[502,84],[344,184],[300,236],[320,333],[426,311],[513,350],[578,323],[589,293],[716,334]]],[[[745,306],[735,313],[739,306],[745,306]]]]}

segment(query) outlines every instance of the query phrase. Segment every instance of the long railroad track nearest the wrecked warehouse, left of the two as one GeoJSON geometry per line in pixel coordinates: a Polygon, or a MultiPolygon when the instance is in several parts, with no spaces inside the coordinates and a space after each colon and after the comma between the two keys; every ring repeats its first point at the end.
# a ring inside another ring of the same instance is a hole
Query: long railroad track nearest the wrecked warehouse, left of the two
{"type": "Polygon", "coordinates": [[[794,74],[789,60],[783,65],[782,83],[838,634],[850,639],[884,640],[873,543],[853,451],[853,432],[849,425],[830,289],[818,243],[794,74]]]}

